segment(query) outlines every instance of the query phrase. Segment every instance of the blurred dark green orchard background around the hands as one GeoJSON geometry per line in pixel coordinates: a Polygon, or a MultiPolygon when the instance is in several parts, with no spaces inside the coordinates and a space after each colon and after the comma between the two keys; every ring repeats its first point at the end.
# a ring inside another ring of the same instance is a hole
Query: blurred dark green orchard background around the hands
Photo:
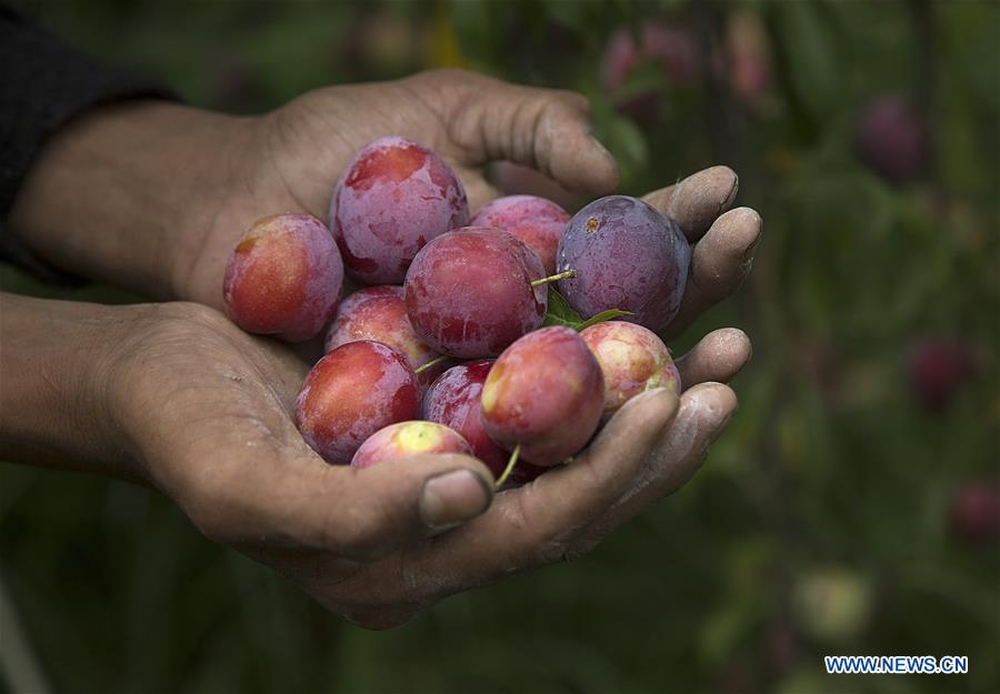
{"type": "Polygon", "coordinates": [[[0,690],[36,673],[122,693],[1000,691],[1000,3],[21,7],[236,112],[440,66],[576,89],[623,192],[726,163],[766,225],[739,296],[671,345],[746,330],[740,412],[688,486],[589,556],[371,633],[153,493],[3,465],[0,690]],[[970,671],[826,675],[841,653],[970,671]]]}

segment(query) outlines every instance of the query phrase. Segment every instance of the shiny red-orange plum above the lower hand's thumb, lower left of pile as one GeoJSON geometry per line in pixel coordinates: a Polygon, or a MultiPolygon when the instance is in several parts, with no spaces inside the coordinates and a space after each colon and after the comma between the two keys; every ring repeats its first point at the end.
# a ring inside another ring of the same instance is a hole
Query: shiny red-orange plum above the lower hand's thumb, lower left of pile
{"type": "Polygon", "coordinates": [[[380,342],[343,344],[319,360],[296,399],[296,425],[328,463],[346,465],[380,429],[420,415],[417,375],[380,342]]]}

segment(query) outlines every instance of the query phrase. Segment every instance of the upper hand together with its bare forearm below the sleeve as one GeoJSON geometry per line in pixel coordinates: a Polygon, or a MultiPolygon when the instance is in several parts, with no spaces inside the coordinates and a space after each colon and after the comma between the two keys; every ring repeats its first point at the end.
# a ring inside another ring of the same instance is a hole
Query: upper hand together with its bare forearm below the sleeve
{"type": "MultiPolygon", "coordinates": [[[[318,89],[262,117],[168,102],[100,107],[52,138],[9,221],[30,249],[67,270],[221,308],[226,261],[250,224],[278,212],[327,221],[341,171],[382,135],[401,134],[448,160],[473,212],[499,194],[482,173],[493,160],[533,167],[588,195],[611,192],[618,168],[590,135],[588,111],[573,92],[461,70],[318,89]]],[[[696,244],[671,334],[749,269],[759,217],[746,209],[719,217],[736,192],[736,174],[713,167],[647,197],[696,244]]]]}

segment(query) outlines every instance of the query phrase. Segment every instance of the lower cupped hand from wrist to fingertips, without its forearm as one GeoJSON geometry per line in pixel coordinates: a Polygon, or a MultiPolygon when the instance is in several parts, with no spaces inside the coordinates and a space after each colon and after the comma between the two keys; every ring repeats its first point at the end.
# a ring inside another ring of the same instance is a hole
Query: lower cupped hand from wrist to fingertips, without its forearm
{"type": "Polygon", "coordinates": [[[628,403],[569,465],[493,496],[462,455],[356,470],[323,462],[292,423],[306,366],[199,304],[150,305],[109,386],[138,470],[211,540],[279,570],[338,614],[399,624],[436,601],[564,561],[680,486],[736,409],[720,383],[748,358],[720,330],[679,360],[680,399],[628,403]]]}

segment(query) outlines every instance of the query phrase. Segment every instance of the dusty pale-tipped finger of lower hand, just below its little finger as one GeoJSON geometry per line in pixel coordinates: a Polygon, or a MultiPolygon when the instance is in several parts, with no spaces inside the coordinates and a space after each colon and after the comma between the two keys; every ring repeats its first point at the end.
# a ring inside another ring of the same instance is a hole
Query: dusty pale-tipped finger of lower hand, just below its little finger
{"type": "Polygon", "coordinates": [[[680,401],[673,424],[646,459],[641,474],[601,519],[580,533],[574,547],[583,551],[642,512],[649,504],[671,494],[690,480],[738,409],[736,393],[721,383],[702,383],[688,390],[680,401]]]}

